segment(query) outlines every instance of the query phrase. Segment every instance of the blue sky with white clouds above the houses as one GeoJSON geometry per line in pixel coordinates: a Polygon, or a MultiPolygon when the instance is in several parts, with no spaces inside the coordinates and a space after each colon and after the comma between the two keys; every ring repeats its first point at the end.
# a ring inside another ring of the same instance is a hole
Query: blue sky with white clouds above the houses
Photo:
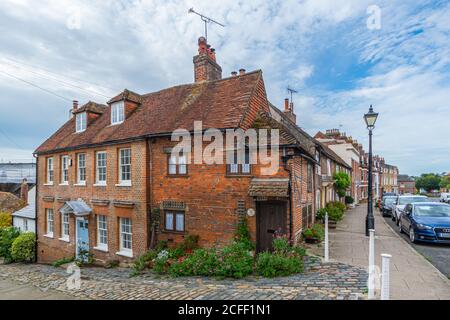
{"type": "Polygon", "coordinates": [[[376,153],[407,174],[450,171],[450,1],[422,0],[2,0],[0,161],[31,159],[73,99],[192,82],[191,7],[226,25],[209,29],[224,76],[262,69],[279,107],[295,88],[310,134],[340,128],[367,148],[373,104],[376,153]]]}

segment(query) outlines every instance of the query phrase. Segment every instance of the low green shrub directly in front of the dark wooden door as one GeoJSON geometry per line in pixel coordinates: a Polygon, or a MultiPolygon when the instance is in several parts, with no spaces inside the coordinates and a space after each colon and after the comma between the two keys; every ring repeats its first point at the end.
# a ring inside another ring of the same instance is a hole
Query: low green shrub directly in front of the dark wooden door
{"type": "Polygon", "coordinates": [[[303,271],[303,257],[297,254],[262,252],[258,254],[256,272],[266,278],[288,276],[303,271]]]}

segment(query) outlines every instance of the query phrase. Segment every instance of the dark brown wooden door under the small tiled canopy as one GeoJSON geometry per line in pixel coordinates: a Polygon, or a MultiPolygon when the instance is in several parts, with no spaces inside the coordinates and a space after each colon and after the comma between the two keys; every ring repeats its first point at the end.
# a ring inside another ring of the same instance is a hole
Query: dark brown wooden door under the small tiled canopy
{"type": "Polygon", "coordinates": [[[275,231],[286,234],[287,220],[286,201],[261,201],[256,207],[256,250],[272,251],[275,231]]]}

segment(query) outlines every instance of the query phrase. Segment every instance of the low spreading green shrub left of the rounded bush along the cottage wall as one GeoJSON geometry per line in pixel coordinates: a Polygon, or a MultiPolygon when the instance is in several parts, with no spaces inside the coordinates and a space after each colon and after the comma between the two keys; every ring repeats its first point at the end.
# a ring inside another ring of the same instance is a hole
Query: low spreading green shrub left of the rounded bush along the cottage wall
{"type": "Polygon", "coordinates": [[[214,276],[219,259],[214,249],[196,249],[185,259],[180,259],[169,268],[173,276],[214,276]]]}

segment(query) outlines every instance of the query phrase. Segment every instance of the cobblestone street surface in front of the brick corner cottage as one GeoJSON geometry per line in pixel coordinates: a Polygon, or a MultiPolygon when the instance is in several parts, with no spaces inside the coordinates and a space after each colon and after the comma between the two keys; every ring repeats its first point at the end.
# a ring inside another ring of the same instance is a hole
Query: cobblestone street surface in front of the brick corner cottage
{"type": "MultiPolygon", "coordinates": [[[[0,280],[38,288],[43,295],[61,299],[270,299],[324,300],[365,299],[366,272],[340,263],[307,263],[306,272],[284,278],[250,277],[245,280],[167,278],[146,273],[130,278],[128,269],[82,268],[81,288],[69,290],[70,275],[64,268],[47,265],[0,265],[0,280]]],[[[0,287],[0,298],[8,288],[0,287]]],[[[36,299],[36,294],[15,299],[36,299]]]]}

